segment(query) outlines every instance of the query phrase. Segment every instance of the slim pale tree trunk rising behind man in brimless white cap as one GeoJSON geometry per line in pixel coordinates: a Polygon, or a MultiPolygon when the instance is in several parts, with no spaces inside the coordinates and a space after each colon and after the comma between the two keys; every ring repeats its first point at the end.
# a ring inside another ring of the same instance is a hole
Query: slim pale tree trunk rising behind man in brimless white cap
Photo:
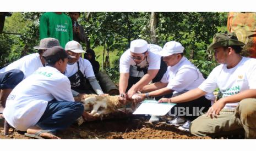
{"type": "Polygon", "coordinates": [[[156,27],[157,27],[157,16],[156,16],[155,12],[151,12],[150,38],[151,38],[151,42],[154,43],[154,44],[157,44],[156,27]]]}

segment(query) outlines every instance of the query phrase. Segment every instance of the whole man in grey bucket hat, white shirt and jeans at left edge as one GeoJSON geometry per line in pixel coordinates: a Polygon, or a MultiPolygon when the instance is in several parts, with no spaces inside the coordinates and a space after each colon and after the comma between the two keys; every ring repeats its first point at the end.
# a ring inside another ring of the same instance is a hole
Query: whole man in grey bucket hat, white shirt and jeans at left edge
{"type": "Polygon", "coordinates": [[[29,77],[29,75],[35,72],[38,68],[45,66],[45,60],[42,57],[43,52],[53,46],[58,45],[59,41],[57,39],[44,38],[40,40],[40,45],[34,47],[34,49],[38,50],[38,53],[26,55],[21,59],[10,63],[10,65],[0,69],[0,74],[2,75],[1,79],[3,79],[0,93],[0,101],[2,104],[0,106],[0,114],[2,114],[1,108],[4,108],[6,99],[15,85],[17,85],[22,79],[29,77]],[[6,84],[8,84],[8,86],[4,86],[6,84]]]}

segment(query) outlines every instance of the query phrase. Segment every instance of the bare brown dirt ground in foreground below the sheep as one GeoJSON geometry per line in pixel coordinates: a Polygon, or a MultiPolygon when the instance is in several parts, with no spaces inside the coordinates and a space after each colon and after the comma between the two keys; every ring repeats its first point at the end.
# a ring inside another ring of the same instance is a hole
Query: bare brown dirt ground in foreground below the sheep
{"type": "MultiPolygon", "coordinates": [[[[178,130],[176,127],[166,125],[165,120],[158,124],[150,124],[150,117],[130,116],[122,119],[108,119],[90,121],[78,126],[73,124],[67,130],[58,133],[62,139],[209,139],[210,137],[197,137],[178,130]]],[[[0,119],[0,139],[28,139],[22,133],[9,129],[9,136],[4,134],[4,120],[0,119]]]]}

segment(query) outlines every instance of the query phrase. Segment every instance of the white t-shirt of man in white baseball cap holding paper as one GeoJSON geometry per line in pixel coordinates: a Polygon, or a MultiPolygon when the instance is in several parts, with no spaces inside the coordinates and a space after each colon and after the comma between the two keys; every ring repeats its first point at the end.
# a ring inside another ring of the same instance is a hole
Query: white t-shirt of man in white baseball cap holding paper
{"type": "MultiPolygon", "coordinates": [[[[186,57],[182,57],[175,66],[167,67],[162,83],[168,83],[167,88],[177,92],[186,92],[204,82],[204,77],[197,67],[195,67],[186,57]]],[[[214,101],[215,96],[212,92],[205,95],[208,100],[214,101]]]]}

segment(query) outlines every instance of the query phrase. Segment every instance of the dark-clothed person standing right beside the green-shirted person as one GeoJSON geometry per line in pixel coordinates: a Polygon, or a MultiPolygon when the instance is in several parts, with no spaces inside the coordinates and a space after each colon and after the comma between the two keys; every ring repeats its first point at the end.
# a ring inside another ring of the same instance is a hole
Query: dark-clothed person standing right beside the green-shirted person
{"type": "Polygon", "coordinates": [[[78,24],[77,19],[80,17],[80,12],[69,12],[73,26],[73,40],[78,43],[86,43],[87,37],[85,36],[84,27],[78,24]]]}

